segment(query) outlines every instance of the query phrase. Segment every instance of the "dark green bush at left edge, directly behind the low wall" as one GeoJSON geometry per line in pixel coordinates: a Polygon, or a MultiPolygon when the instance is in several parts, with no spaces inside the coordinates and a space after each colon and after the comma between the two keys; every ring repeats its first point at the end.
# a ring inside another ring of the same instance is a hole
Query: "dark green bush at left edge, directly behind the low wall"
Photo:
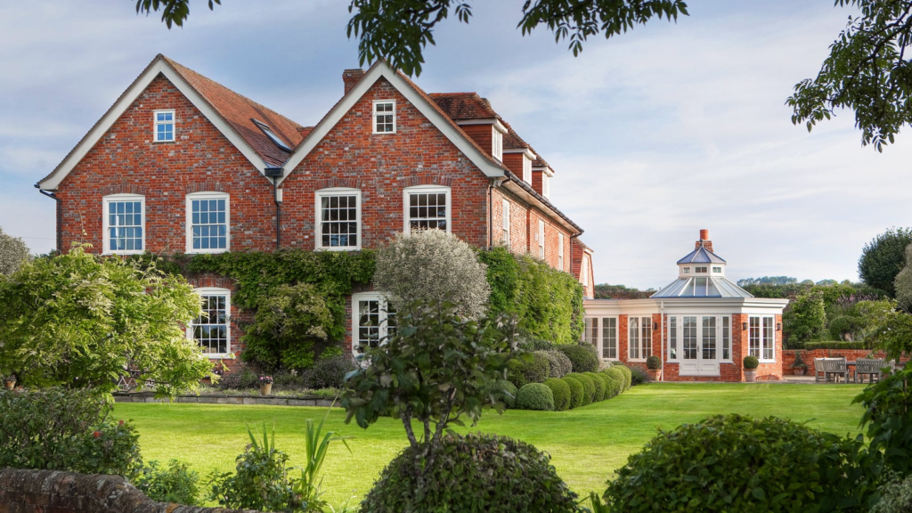
{"type": "Polygon", "coordinates": [[[0,467],[132,478],[142,466],[139,435],[90,389],[0,392],[0,467]]]}

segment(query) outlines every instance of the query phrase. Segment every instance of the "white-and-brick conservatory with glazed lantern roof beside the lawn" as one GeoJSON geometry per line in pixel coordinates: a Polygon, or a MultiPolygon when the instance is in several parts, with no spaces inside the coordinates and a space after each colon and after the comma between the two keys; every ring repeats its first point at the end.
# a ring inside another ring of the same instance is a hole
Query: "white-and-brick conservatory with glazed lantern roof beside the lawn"
{"type": "Polygon", "coordinates": [[[678,278],[645,299],[586,299],[584,340],[608,361],[645,368],[658,355],[665,381],[744,381],[741,361],[760,360],[758,380],[782,379],[782,309],[725,277],[709,230],[678,263],[678,278]]]}

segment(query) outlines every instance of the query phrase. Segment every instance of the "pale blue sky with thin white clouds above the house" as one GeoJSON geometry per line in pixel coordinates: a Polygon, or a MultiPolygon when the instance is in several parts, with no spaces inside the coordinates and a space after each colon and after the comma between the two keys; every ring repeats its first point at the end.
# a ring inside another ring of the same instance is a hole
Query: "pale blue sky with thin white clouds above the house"
{"type": "MultiPolygon", "coordinates": [[[[597,283],[661,287],[710,230],[732,278],[857,279],[867,241],[912,225],[912,134],[878,154],[851,112],[808,134],[784,106],[851,14],[832,1],[701,1],[654,21],[565,43],[515,26],[520,0],[472,3],[449,20],[417,79],[477,91],[556,172],[554,203],[586,229],[597,283]]],[[[0,226],[54,246],[52,170],[158,53],[304,125],[358,65],[347,2],[192,2],[184,28],[135,2],[0,4],[0,226]]]]}

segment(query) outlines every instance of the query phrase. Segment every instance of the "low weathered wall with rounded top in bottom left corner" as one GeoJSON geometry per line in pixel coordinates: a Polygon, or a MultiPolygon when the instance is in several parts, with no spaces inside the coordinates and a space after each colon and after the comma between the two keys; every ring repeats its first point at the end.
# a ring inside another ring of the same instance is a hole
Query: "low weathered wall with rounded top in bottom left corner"
{"type": "MultiPolygon", "coordinates": [[[[121,476],[0,468],[0,513],[242,513],[155,502],[121,476]]],[[[244,510],[244,513],[256,513],[244,510]]]]}

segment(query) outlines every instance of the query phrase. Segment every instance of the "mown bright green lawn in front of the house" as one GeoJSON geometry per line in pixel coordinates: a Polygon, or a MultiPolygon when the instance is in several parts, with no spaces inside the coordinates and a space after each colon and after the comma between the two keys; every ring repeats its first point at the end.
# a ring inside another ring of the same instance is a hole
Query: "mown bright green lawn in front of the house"
{"type": "MultiPolygon", "coordinates": [[[[580,495],[603,490],[606,479],[656,434],[657,428],[698,421],[710,414],[777,415],[835,434],[857,434],[860,405],[852,399],[861,385],[656,383],[634,387],[602,403],[570,412],[511,410],[485,414],[472,431],[507,434],[552,455],[557,472],[580,495]]],[[[320,408],[216,404],[118,403],[118,418],[132,419],[140,432],[143,457],[187,461],[203,477],[213,469],[232,470],[246,444],[244,425],[275,423],[276,445],[301,465],[306,418],[322,418],[320,408]],[[297,457],[295,457],[297,456],[297,457]]],[[[344,424],[334,410],[330,429],[353,436],[326,458],[324,489],[331,504],[361,496],[379,471],[407,444],[402,424],[383,419],[363,430],[344,424]]],[[[262,429],[262,428],[261,428],[262,429]]],[[[353,501],[354,502],[354,501],[353,501]]]]}

